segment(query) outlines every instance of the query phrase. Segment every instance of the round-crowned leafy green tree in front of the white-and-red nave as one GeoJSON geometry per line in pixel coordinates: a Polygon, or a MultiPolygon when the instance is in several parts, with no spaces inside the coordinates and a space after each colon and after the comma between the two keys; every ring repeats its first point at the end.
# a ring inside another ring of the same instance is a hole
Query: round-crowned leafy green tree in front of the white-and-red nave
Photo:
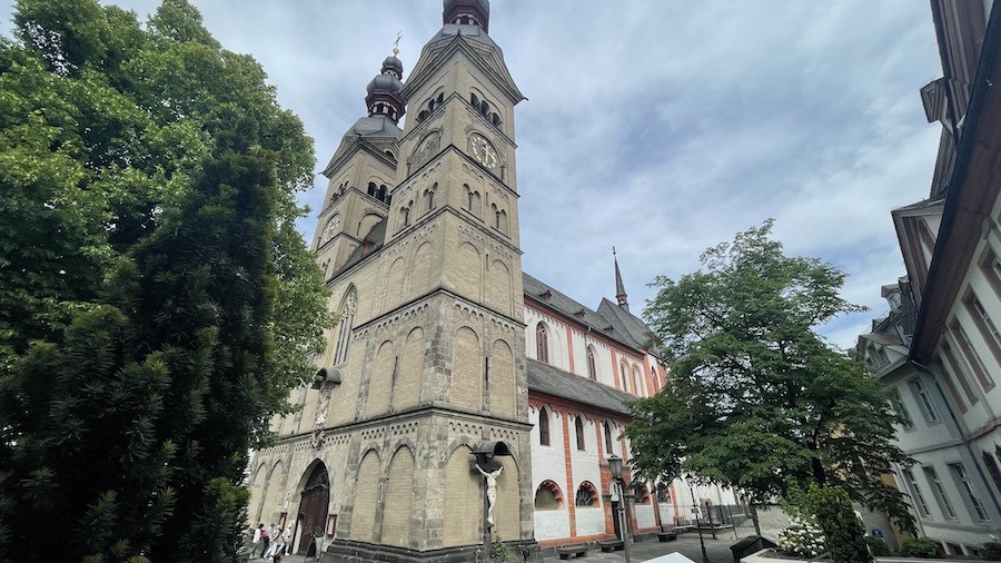
{"type": "Polygon", "coordinates": [[[843,273],[785,256],[771,228],[707,249],[702,270],[656,279],[646,317],[671,376],[632,406],[634,467],[648,477],[692,472],[759,502],[790,483],[840,485],[912,526],[901,493],[880,480],[908,463],[882,387],[814,332],[862,308],[839,296],[843,273]]]}

